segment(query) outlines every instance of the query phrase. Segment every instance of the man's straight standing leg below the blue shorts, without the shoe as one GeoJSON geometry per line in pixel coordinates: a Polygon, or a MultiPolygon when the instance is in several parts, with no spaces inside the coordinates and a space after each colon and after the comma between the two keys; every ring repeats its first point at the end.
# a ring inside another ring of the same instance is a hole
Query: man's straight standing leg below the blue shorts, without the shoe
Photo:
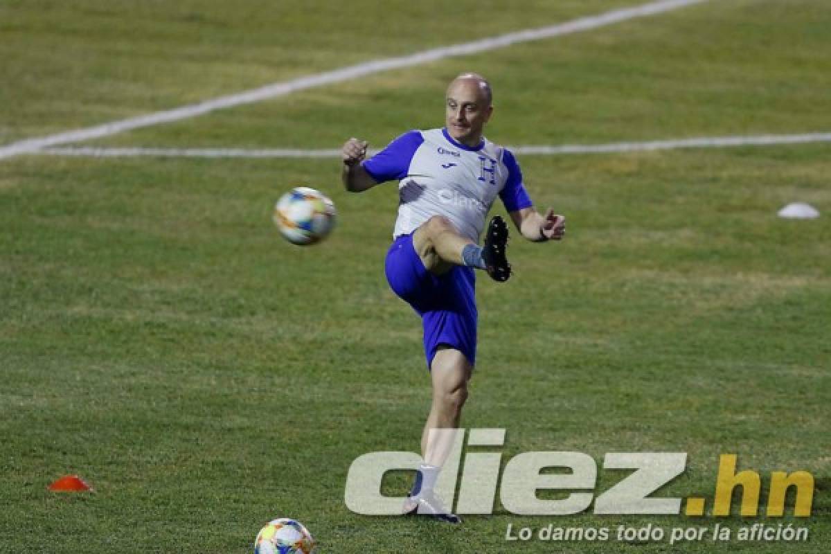
{"type": "Polygon", "coordinates": [[[442,348],[435,353],[430,365],[433,383],[433,402],[421,434],[421,455],[425,463],[441,466],[453,445],[452,433],[430,434],[430,429],[459,427],[462,406],[467,400],[467,383],[473,368],[465,355],[453,348],[442,348]]]}

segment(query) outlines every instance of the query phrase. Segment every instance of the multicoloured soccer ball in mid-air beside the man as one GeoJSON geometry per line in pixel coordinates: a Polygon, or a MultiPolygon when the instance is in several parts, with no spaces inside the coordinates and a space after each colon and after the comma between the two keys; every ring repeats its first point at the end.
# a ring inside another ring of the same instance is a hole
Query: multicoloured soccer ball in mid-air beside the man
{"type": "Polygon", "coordinates": [[[319,190],[297,187],[274,206],[274,224],[293,244],[320,242],[335,226],[335,204],[319,190]]]}

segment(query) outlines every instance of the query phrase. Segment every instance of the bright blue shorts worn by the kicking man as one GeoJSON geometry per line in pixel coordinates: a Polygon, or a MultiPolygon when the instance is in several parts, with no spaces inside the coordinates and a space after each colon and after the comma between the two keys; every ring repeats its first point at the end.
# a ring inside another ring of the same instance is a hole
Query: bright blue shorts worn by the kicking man
{"type": "Polygon", "coordinates": [[[453,266],[443,275],[427,271],[412,234],[396,238],[386,252],[386,281],[421,316],[427,369],[439,346],[447,345],[476,362],[476,277],[473,267],[453,266]]]}

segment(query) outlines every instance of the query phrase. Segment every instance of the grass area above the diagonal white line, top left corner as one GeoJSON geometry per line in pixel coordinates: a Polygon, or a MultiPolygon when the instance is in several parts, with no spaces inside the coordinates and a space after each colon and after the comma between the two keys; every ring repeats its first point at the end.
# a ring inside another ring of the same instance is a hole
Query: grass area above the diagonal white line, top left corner
{"type": "Polygon", "coordinates": [[[626,0],[513,3],[6,0],[0,143],[164,110],[449,42],[553,24],[626,0]]]}

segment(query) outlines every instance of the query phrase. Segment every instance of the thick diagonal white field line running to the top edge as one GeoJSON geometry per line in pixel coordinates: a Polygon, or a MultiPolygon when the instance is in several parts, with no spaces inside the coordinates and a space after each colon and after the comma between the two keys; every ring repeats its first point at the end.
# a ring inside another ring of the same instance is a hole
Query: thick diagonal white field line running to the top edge
{"type": "Polygon", "coordinates": [[[342,67],[334,71],[325,71],[309,76],[299,77],[291,81],[282,81],[271,85],[263,86],[251,91],[244,91],[229,96],[220,96],[212,100],[199,102],[198,104],[183,105],[173,110],[157,111],[152,114],[130,117],[129,119],[112,121],[103,125],[96,125],[86,129],[70,130],[57,135],[47,135],[40,138],[20,140],[11,145],[0,146],[0,159],[8,158],[17,154],[33,152],[48,146],[66,145],[82,142],[84,140],[100,139],[101,137],[116,135],[125,130],[138,129],[150,125],[170,123],[172,121],[185,120],[196,115],[207,114],[214,110],[222,110],[237,105],[250,104],[286,96],[293,92],[303,91],[316,86],[331,85],[332,83],[349,81],[357,77],[391,71],[402,67],[417,66],[430,61],[442,60],[451,56],[470,56],[479,52],[494,50],[497,48],[509,47],[520,42],[538,41],[544,38],[560,37],[573,32],[588,31],[597,29],[612,23],[623,22],[636,17],[647,17],[662,12],[669,12],[679,7],[689,6],[708,0],[660,0],[659,2],[648,2],[636,7],[627,7],[611,12],[605,12],[597,16],[580,17],[570,22],[559,23],[549,27],[529,29],[519,32],[509,32],[498,37],[479,39],[478,41],[465,42],[447,47],[433,48],[416,52],[409,56],[391,57],[381,60],[366,61],[355,66],[342,67]]]}

